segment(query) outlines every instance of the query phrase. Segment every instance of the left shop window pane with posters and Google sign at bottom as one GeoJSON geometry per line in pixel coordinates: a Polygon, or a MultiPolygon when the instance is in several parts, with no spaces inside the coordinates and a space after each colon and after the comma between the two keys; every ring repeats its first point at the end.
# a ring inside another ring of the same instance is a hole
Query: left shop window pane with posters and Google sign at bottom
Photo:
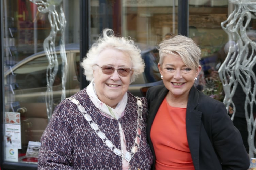
{"type": "Polygon", "coordinates": [[[39,1],[36,0],[2,2],[4,160],[37,164],[38,143],[49,121],[47,82],[52,85],[52,108],[61,101],[62,56],[65,53],[60,53],[59,47],[63,43],[68,63],[67,74],[64,75],[66,97],[70,96],[70,88],[73,88],[74,77],[71,75],[76,75],[76,72],[72,64],[76,62],[75,56],[80,54],[79,0],[44,1],[46,6],[41,4],[41,7],[45,7],[46,12],[39,10],[39,1]],[[55,8],[54,13],[50,7],[55,8]],[[54,20],[56,16],[63,20],[54,20]],[[47,72],[50,68],[56,69],[55,77],[50,76],[55,73],[47,72]]]}

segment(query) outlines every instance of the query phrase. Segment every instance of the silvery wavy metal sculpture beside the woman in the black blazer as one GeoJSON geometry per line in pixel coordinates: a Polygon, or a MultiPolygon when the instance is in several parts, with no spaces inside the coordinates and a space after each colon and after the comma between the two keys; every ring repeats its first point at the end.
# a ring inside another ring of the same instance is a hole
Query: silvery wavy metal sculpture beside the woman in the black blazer
{"type": "Polygon", "coordinates": [[[253,72],[253,66],[256,63],[256,43],[248,33],[248,25],[252,18],[256,18],[256,2],[247,0],[229,1],[234,4],[235,8],[228,19],[221,23],[221,27],[229,36],[230,46],[227,57],[218,72],[225,92],[223,103],[226,105],[227,110],[229,106],[234,109],[232,120],[236,112],[232,97],[238,83],[246,95],[244,110],[248,126],[249,156],[254,157],[256,149],[254,145],[255,120],[253,117],[253,105],[256,104],[256,77],[253,72]]]}

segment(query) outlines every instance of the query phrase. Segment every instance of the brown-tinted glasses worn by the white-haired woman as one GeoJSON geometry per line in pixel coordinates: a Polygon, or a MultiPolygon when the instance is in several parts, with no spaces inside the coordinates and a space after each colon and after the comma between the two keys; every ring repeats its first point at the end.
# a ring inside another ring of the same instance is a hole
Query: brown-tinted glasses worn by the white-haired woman
{"type": "MultiPolygon", "coordinates": [[[[99,65],[95,64],[95,66],[99,66],[99,65]]],[[[115,70],[117,70],[117,73],[124,77],[127,76],[132,71],[132,69],[127,67],[114,68],[113,66],[109,66],[109,65],[102,66],[101,70],[104,74],[107,74],[107,75],[111,75],[115,72],[115,70]]]]}

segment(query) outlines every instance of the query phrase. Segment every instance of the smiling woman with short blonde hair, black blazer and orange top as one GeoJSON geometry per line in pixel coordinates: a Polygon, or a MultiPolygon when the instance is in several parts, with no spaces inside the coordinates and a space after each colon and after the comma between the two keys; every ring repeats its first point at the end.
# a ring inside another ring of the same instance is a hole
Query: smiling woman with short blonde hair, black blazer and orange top
{"type": "Polygon", "coordinates": [[[177,35],[159,45],[164,85],[149,88],[147,136],[157,170],[247,170],[249,156],[225,105],[198,91],[200,49],[177,35]]]}

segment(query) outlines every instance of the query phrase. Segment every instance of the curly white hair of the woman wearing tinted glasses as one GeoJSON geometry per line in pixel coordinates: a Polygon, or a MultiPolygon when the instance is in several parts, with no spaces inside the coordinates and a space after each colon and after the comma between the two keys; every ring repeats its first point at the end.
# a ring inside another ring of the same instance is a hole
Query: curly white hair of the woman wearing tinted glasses
{"type": "Polygon", "coordinates": [[[144,71],[145,63],[140,54],[141,50],[134,44],[134,41],[130,37],[114,36],[114,31],[106,28],[103,30],[103,35],[92,44],[86,57],[81,62],[84,75],[88,81],[93,79],[93,65],[97,64],[98,55],[108,48],[119,50],[131,58],[133,74],[130,83],[135,81],[138,75],[144,71]]]}

